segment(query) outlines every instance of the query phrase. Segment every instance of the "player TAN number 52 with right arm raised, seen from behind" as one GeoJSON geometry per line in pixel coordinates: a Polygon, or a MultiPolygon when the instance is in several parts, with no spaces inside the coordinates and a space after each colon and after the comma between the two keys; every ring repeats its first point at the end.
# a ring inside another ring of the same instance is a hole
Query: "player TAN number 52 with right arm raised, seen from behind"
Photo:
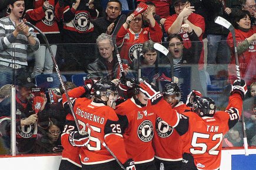
{"type": "Polygon", "coordinates": [[[175,128],[184,146],[181,169],[220,168],[222,138],[238,122],[242,112],[242,98],[246,93],[245,81],[236,80],[232,84],[225,111],[216,111],[215,102],[210,97],[200,97],[195,101],[194,112],[186,112],[185,116],[180,117],[175,128]]]}

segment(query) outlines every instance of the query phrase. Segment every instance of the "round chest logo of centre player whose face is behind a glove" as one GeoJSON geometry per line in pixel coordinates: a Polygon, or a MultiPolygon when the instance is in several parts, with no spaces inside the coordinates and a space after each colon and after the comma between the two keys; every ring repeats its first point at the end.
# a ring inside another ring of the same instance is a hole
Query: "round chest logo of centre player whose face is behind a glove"
{"type": "Polygon", "coordinates": [[[149,120],[143,121],[138,127],[138,137],[143,142],[149,142],[154,136],[153,124],[149,120]]]}

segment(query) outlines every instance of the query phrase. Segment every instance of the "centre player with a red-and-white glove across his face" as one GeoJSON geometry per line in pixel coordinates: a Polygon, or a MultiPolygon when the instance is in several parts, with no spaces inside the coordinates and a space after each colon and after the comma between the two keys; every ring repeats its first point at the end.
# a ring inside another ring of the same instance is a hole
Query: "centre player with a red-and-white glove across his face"
{"type": "Polygon", "coordinates": [[[134,92],[134,96],[119,104],[116,110],[124,132],[125,149],[137,169],[154,170],[157,169],[152,147],[155,120],[161,117],[175,127],[179,115],[147,81],[142,81],[134,92]]]}

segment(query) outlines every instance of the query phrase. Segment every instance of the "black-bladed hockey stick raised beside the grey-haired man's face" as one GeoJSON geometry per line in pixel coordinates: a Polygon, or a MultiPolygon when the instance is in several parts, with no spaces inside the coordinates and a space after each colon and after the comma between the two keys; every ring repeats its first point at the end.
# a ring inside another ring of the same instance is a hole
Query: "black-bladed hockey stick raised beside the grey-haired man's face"
{"type": "Polygon", "coordinates": [[[115,26],[115,30],[112,33],[112,42],[114,43],[114,47],[115,47],[115,52],[117,53],[117,60],[118,60],[118,64],[119,64],[119,68],[120,68],[120,72],[122,74],[121,79],[125,79],[125,74],[124,74],[124,67],[122,66],[122,59],[119,55],[118,52],[118,48],[117,48],[117,32],[118,30],[121,28],[121,26],[125,23],[126,20],[126,16],[123,14],[120,16],[118,22],[117,22],[117,26],[115,26]]]}

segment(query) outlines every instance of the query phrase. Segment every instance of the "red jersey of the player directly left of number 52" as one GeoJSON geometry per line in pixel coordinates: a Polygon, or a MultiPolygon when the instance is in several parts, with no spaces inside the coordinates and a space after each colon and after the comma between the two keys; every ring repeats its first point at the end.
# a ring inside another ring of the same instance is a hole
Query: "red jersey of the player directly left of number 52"
{"type": "MultiPolygon", "coordinates": [[[[184,113],[185,110],[190,110],[183,102],[179,102],[174,107],[178,113],[184,113]]],[[[155,158],[163,161],[182,161],[182,146],[181,137],[175,128],[171,127],[157,117],[155,121],[155,136],[152,144],[155,151],[155,158]],[[172,145],[169,147],[169,145],[172,145]]]]}

